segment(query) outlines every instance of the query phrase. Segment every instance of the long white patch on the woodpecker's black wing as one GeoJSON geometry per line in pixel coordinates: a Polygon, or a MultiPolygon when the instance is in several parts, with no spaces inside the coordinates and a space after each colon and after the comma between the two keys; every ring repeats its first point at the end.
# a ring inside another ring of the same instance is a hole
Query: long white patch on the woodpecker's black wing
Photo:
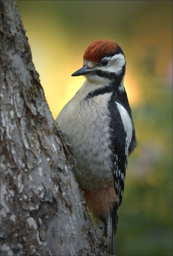
{"type": "Polygon", "coordinates": [[[131,140],[132,140],[132,131],[133,131],[133,123],[132,120],[126,111],[126,109],[116,102],[117,108],[119,110],[121,120],[124,126],[124,131],[126,132],[126,147],[125,147],[125,155],[126,155],[126,168],[128,168],[128,148],[130,146],[131,140]]]}

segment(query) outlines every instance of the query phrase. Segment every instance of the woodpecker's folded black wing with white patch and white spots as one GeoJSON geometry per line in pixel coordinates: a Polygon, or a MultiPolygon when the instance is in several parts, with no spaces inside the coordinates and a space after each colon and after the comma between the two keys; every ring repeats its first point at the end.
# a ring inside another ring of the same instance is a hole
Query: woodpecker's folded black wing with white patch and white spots
{"type": "MultiPolygon", "coordinates": [[[[126,98],[126,103],[128,100],[126,98]]],[[[117,203],[114,209],[114,234],[117,231],[118,215],[119,215],[119,206],[121,205],[126,168],[128,166],[128,155],[129,155],[129,146],[132,140],[133,134],[133,121],[131,118],[131,112],[128,113],[128,109],[123,106],[117,97],[112,95],[111,101],[109,102],[109,111],[111,116],[111,129],[112,129],[112,173],[115,180],[115,192],[117,195],[117,203]]],[[[129,105],[128,108],[130,109],[129,105]]]]}

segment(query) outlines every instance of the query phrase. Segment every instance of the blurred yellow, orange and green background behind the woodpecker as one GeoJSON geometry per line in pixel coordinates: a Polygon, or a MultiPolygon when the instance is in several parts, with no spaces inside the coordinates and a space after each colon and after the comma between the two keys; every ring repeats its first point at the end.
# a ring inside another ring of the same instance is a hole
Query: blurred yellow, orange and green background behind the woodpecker
{"type": "Polygon", "coordinates": [[[129,159],[116,255],[172,255],[172,1],[17,1],[54,119],[84,77],[96,39],[126,56],[138,147],[129,159]]]}

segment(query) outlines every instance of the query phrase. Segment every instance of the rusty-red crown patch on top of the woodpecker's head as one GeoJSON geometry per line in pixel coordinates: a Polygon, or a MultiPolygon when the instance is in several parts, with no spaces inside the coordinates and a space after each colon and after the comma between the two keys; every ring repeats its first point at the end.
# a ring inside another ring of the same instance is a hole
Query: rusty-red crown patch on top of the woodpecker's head
{"type": "Polygon", "coordinates": [[[83,54],[83,59],[98,62],[104,55],[115,53],[117,48],[117,44],[113,41],[96,40],[87,47],[83,54]]]}

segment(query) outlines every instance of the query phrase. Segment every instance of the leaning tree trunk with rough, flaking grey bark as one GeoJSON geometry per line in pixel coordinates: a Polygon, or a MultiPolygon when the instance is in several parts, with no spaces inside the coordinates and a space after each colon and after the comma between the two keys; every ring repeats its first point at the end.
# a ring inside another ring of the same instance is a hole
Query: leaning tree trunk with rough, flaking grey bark
{"type": "Polygon", "coordinates": [[[16,1],[1,1],[1,255],[106,255],[68,159],[16,1]]]}

